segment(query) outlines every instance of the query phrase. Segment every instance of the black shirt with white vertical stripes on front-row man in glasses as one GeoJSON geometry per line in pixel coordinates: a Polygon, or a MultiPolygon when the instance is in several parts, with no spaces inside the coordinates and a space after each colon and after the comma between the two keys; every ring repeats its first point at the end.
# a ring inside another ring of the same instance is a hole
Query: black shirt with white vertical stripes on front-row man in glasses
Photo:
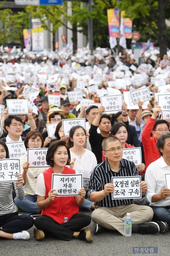
{"type": "MultiPolygon", "coordinates": [[[[120,168],[118,173],[116,173],[110,169],[106,158],[104,162],[98,164],[94,168],[93,173],[90,176],[88,196],[90,197],[91,192],[104,190],[105,184],[112,183],[112,177],[138,175],[138,170],[133,162],[121,159],[120,168]]],[[[130,205],[132,202],[133,199],[113,200],[112,193],[109,193],[109,195],[105,196],[100,202],[96,202],[96,205],[102,207],[114,207],[119,205],[130,205]]]]}

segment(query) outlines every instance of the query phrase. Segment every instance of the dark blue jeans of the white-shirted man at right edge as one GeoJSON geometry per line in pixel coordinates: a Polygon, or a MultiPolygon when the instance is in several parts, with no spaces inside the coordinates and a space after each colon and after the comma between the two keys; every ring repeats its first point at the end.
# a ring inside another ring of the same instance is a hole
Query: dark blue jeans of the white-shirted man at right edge
{"type": "Polygon", "coordinates": [[[154,211],[154,219],[158,221],[165,221],[168,225],[170,225],[170,207],[162,207],[162,206],[151,206],[154,211]]]}

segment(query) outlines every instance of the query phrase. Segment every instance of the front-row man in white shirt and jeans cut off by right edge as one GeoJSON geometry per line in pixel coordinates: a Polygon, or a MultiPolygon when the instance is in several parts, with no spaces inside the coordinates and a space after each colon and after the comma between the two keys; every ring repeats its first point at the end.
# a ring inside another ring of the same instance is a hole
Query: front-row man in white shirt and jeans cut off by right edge
{"type": "Polygon", "coordinates": [[[154,219],[170,227],[170,132],[164,132],[157,140],[159,159],[149,164],[145,181],[148,184],[147,200],[154,211],[154,219]]]}

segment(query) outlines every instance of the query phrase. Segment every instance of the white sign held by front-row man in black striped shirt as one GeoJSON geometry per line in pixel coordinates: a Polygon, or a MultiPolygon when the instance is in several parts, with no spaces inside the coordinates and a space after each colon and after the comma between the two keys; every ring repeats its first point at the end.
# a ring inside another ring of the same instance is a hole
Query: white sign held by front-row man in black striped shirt
{"type": "Polygon", "coordinates": [[[141,198],[141,176],[112,177],[115,192],[112,199],[141,198]]]}

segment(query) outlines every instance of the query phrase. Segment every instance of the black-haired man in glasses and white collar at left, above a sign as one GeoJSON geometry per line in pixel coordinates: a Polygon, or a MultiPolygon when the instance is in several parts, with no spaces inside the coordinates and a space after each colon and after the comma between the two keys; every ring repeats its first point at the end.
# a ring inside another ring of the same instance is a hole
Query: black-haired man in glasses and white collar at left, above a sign
{"type": "Polygon", "coordinates": [[[23,123],[22,119],[17,115],[9,115],[4,121],[4,129],[8,132],[6,138],[2,138],[6,143],[10,142],[20,142],[23,141],[25,137],[21,137],[23,123]]]}

